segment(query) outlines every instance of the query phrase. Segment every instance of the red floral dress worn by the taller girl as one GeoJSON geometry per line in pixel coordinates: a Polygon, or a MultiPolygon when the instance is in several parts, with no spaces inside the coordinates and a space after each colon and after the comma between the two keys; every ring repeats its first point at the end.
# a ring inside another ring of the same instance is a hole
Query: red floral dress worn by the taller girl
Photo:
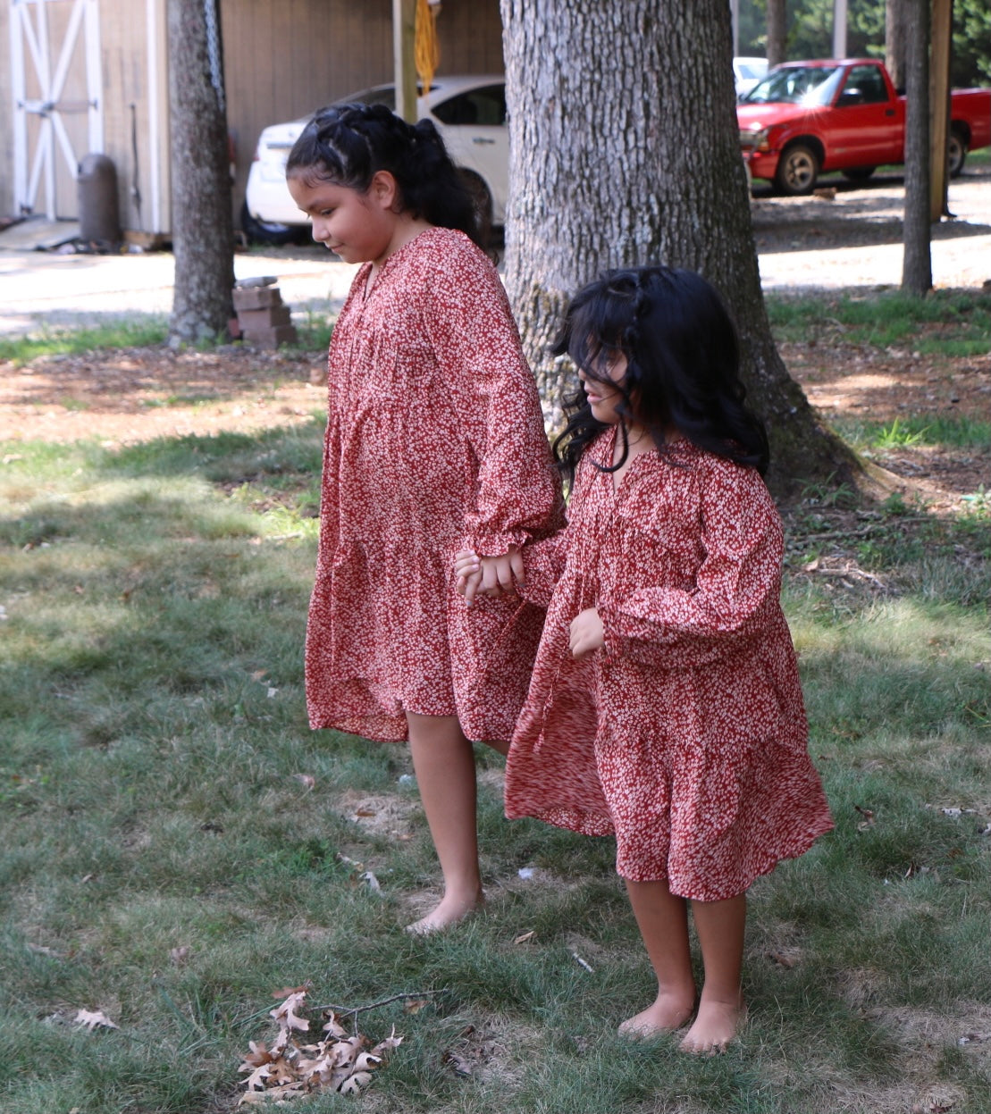
{"type": "Polygon", "coordinates": [[[454,555],[505,554],[562,521],[533,373],[499,276],[431,228],[367,290],[330,344],[320,547],[307,626],[313,727],[407,737],[405,712],[508,739],[544,613],[454,588],[454,555]]]}

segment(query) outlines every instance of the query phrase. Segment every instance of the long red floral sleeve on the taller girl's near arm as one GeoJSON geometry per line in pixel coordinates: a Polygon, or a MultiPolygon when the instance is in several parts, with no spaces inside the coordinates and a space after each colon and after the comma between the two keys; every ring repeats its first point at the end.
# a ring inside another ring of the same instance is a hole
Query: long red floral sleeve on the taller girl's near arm
{"type": "Polygon", "coordinates": [[[561,521],[561,491],[533,372],[498,274],[465,244],[437,276],[425,333],[447,370],[450,403],[477,458],[467,544],[485,556],[522,546],[561,521]]]}

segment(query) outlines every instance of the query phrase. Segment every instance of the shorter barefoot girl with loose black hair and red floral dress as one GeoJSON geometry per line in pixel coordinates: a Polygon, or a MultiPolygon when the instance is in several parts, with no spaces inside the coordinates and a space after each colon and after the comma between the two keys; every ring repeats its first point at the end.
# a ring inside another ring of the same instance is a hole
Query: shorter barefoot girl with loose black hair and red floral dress
{"type": "MultiPolygon", "coordinates": [[[[506,765],[506,814],[615,834],[658,980],[624,1022],[726,1047],[744,1016],[746,892],[833,825],[779,604],[783,534],[716,291],[662,266],[569,309],[580,387],[555,442],[569,526],[524,547],[547,620],[506,765]],[[689,906],[705,983],[696,1004],[689,906]]],[[[468,593],[480,566],[456,560],[468,593]]]]}

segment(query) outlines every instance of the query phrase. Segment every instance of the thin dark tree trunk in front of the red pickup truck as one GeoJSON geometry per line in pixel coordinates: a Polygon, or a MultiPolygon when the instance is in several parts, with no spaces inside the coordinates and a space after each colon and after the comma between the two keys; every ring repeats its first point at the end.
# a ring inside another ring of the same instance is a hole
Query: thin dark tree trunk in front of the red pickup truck
{"type": "Polygon", "coordinates": [[[929,0],[904,0],[905,219],[902,290],[922,297],[933,284],[930,246],[929,0]]]}

